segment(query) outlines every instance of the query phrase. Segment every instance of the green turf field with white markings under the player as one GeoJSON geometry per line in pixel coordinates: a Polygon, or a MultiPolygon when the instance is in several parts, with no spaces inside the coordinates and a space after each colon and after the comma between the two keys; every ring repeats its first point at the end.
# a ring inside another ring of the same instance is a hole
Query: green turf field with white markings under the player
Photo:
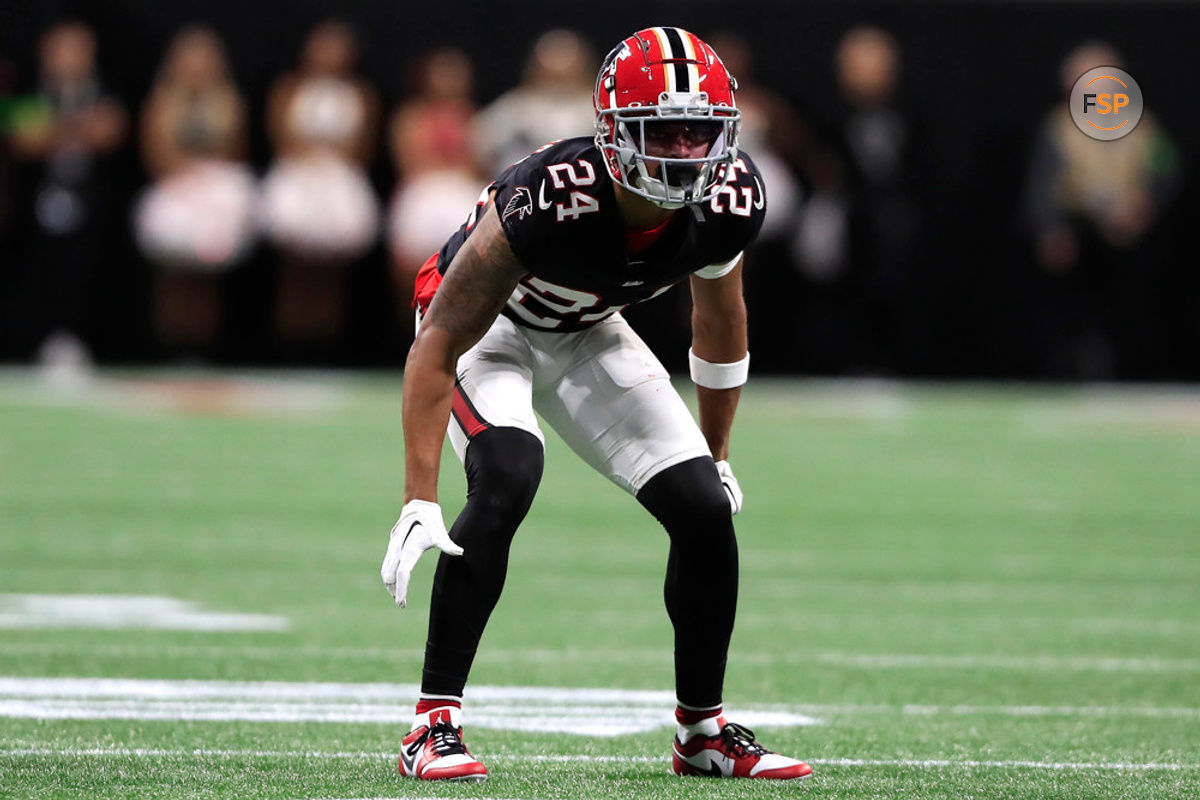
{"type": "Polygon", "coordinates": [[[492,778],[402,782],[398,398],[0,373],[0,796],[1200,796],[1200,392],[751,384],[726,706],[802,784],[670,774],[666,537],[553,435],[468,687],[492,778]]]}

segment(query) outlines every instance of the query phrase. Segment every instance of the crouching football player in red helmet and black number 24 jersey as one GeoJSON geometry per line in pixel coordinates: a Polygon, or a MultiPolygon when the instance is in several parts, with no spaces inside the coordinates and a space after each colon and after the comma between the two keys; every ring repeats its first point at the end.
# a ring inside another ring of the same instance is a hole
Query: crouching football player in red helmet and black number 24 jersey
{"type": "Polygon", "coordinates": [[[487,776],[462,740],[462,693],[541,479],[535,409],[671,539],[674,771],[811,772],[721,714],[738,585],[732,516],[742,509],[730,428],[749,366],[742,252],[766,205],[758,170],[738,150],[736,89],[692,34],[634,34],[596,78],[595,137],[546,145],[504,170],[418,276],[419,330],[404,369],[404,506],[382,570],[397,604],[421,553],[437,547],[443,555],[402,775],[487,776]],[[698,426],[620,315],[684,278],[698,426]],[[449,531],[437,492],[443,432],[469,486],[449,531]]]}

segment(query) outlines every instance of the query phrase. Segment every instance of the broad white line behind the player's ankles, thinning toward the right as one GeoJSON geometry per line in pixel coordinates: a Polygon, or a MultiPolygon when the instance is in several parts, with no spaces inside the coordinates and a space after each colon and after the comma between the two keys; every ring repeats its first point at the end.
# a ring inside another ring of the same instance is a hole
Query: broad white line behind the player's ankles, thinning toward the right
{"type": "MultiPolygon", "coordinates": [[[[336,684],[0,676],[0,717],[408,723],[415,684],[336,684]]],[[[670,691],[469,686],[467,714],[485,728],[618,735],[670,727],[670,691]]],[[[846,715],[1141,717],[1200,720],[1200,708],[790,703],[731,706],[750,726],[820,724],[846,715]]]]}

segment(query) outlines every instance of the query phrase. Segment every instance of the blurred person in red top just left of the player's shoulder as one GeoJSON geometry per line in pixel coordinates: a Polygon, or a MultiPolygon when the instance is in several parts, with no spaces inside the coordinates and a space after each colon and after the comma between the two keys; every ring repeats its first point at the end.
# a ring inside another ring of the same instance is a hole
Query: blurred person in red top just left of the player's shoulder
{"type": "Polygon", "coordinates": [[[486,184],[475,174],[470,150],[470,60],[462,50],[438,50],[412,74],[409,97],[389,131],[400,175],[389,219],[392,283],[409,331],[416,271],[462,224],[486,184]]]}

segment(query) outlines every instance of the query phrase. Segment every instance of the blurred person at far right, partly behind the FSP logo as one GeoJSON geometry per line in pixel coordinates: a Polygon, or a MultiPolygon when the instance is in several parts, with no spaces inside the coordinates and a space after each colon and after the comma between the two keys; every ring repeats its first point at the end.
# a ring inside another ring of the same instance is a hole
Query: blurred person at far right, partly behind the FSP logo
{"type": "Polygon", "coordinates": [[[1163,367],[1160,283],[1151,235],[1178,182],[1178,155],[1151,110],[1128,136],[1098,142],[1070,120],[1079,76],[1122,66],[1111,47],[1088,43],[1063,60],[1063,101],[1046,114],[1025,200],[1045,272],[1043,320],[1055,377],[1154,377],[1163,367]]]}

